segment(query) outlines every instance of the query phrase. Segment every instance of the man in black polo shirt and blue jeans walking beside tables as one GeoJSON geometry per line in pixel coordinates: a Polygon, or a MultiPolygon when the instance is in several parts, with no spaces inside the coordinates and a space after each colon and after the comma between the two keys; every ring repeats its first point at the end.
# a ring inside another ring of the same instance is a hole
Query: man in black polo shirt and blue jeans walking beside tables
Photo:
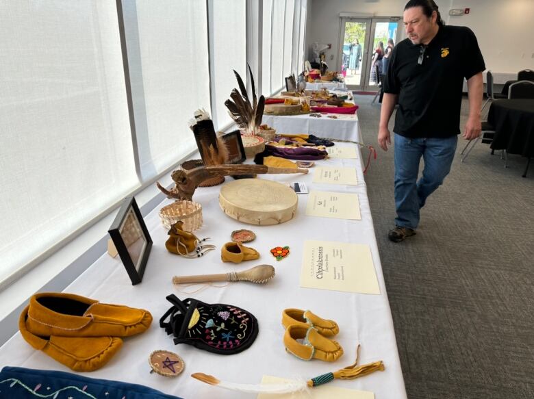
{"type": "Polygon", "coordinates": [[[416,234],[419,210],[442,183],[453,162],[458,134],[463,78],[468,82],[469,118],[463,138],[480,135],[484,60],[473,32],[444,26],[433,0],[405,6],[408,38],[394,48],[383,83],[379,145],[391,144],[387,124],[395,118],[396,227],[388,237],[401,242],[416,234]],[[417,181],[420,159],[422,177],[417,181]]]}

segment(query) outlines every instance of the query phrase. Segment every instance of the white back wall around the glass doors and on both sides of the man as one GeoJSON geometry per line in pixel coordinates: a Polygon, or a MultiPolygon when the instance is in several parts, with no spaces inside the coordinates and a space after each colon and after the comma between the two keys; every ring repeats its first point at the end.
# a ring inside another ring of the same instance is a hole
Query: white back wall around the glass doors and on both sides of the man
{"type": "MultiPolygon", "coordinates": [[[[309,1],[306,54],[312,42],[331,43],[332,49],[326,51],[327,64],[331,69],[336,68],[340,12],[402,17],[406,1],[309,1]],[[333,60],[330,60],[331,55],[333,60]]],[[[468,26],[474,31],[488,69],[496,73],[534,69],[534,0],[436,0],[436,3],[447,25],[468,26]],[[470,14],[449,16],[451,8],[470,8],[470,14]]]]}

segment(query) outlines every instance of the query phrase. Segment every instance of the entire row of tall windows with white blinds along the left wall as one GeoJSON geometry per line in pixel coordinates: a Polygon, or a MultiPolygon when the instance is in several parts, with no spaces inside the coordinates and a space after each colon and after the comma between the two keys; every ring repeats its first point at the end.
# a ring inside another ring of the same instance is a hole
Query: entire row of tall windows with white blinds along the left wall
{"type": "Polygon", "coordinates": [[[229,124],[233,69],[300,69],[306,0],[253,1],[0,2],[0,289],[229,124]]]}

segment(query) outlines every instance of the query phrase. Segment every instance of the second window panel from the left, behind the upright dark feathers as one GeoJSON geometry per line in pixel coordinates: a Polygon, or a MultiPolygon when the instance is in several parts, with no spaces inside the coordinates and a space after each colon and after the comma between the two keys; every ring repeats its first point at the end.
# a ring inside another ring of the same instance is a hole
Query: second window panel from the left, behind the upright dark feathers
{"type": "Polygon", "coordinates": [[[123,0],[142,180],[196,149],[188,120],[209,110],[204,1],[123,0]]]}

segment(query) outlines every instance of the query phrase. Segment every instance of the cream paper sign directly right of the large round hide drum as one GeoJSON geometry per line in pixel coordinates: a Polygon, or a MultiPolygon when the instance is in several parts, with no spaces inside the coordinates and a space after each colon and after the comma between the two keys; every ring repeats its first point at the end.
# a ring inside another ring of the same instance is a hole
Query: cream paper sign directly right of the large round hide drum
{"type": "Polygon", "coordinates": [[[310,191],[306,215],[361,220],[358,194],[310,191]]]}

